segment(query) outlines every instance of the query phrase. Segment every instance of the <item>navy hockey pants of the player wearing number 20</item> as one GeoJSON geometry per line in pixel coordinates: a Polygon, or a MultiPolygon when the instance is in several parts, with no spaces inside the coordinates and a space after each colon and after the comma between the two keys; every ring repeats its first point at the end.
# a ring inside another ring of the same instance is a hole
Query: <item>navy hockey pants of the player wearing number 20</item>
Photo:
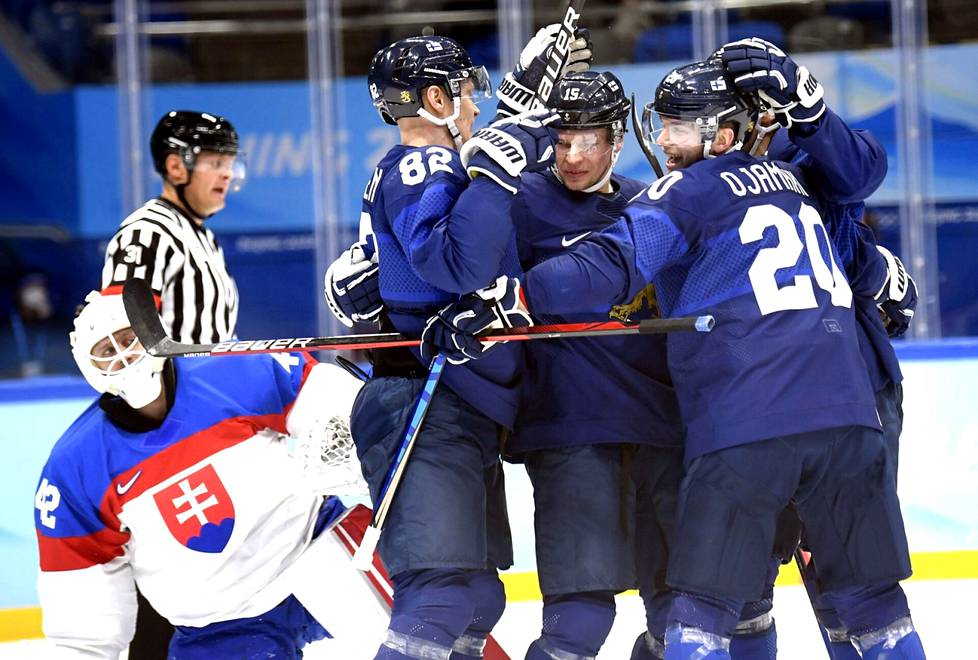
{"type": "Polygon", "coordinates": [[[819,578],[826,592],[908,577],[909,552],[888,454],[878,431],[843,427],[694,459],[680,492],[669,584],[722,602],[732,615],[724,629],[712,632],[729,636],[727,628],[743,602],[763,593],[777,514],[792,500],[811,549],[821,558],[819,578]]]}

